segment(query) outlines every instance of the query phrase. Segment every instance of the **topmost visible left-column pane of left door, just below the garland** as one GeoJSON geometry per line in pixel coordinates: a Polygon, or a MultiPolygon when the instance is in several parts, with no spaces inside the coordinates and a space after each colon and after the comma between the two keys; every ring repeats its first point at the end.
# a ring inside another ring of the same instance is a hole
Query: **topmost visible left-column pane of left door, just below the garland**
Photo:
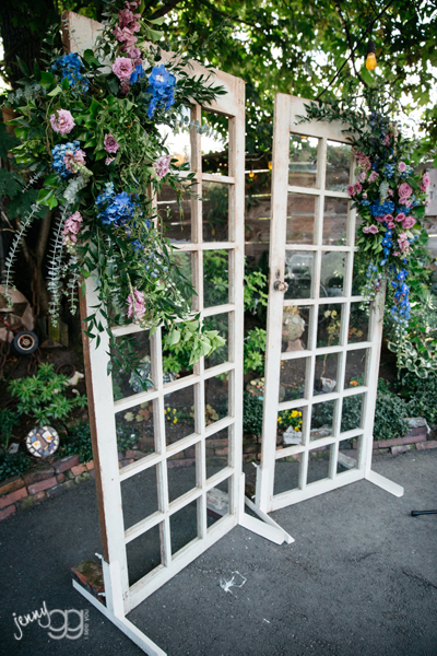
{"type": "MultiPolygon", "coordinates": [[[[150,335],[149,330],[142,330],[141,332],[134,332],[129,335],[125,339],[129,353],[134,354],[134,364],[137,372],[121,371],[117,366],[116,358],[111,358],[113,363],[113,394],[114,400],[133,396],[140,391],[150,391],[154,389],[152,384],[152,372],[151,372],[151,347],[150,347],[150,335]]],[[[117,338],[117,345],[122,343],[121,338],[117,338]]],[[[126,353],[126,351],[123,351],[126,353]]]]}

